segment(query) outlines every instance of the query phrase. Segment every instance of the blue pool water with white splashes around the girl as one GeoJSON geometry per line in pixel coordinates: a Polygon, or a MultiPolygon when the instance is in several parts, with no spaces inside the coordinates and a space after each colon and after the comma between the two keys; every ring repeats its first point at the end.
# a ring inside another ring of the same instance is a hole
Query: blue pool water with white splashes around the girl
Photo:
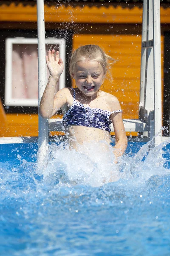
{"type": "Polygon", "coordinates": [[[36,143],[0,152],[0,256],[170,255],[170,144],[128,143],[120,179],[102,186],[104,158],[51,143],[40,170],[36,143]]]}

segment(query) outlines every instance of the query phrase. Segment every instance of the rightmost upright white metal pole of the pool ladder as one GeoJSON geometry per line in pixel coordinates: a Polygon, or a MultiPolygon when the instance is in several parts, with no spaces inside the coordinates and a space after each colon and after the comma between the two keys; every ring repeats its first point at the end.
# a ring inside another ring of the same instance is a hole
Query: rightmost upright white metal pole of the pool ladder
{"type": "Polygon", "coordinates": [[[153,67],[154,67],[154,107],[155,107],[155,143],[161,143],[161,22],[160,0],[153,0],[153,67]]]}

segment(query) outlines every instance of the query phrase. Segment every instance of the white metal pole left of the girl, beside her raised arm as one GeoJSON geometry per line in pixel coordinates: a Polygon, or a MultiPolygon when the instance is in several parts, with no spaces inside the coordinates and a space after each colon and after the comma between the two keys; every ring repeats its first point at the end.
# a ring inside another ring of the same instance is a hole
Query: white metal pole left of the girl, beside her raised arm
{"type": "MultiPolygon", "coordinates": [[[[38,106],[46,85],[45,64],[45,22],[44,0],[37,0],[37,30],[38,30],[38,106]]],[[[38,164],[43,166],[48,157],[48,120],[38,115],[38,164]]]]}

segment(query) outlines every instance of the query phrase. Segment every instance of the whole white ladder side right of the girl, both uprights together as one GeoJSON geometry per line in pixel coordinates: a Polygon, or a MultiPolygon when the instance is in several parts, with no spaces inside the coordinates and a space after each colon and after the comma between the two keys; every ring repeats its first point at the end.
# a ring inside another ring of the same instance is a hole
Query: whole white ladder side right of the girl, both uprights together
{"type": "Polygon", "coordinates": [[[147,136],[150,140],[155,137],[155,143],[161,143],[161,32],[159,0],[143,0],[139,117],[148,123],[147,136]],[[153,115],[150,114],[151,112],[153,112],[153,115]]]}

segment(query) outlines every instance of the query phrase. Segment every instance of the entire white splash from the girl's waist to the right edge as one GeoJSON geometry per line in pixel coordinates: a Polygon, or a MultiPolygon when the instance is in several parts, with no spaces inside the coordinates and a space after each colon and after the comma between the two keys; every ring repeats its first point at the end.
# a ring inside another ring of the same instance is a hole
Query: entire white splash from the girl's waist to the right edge
{"type": "Polygon", "coordinates": [[[162,149],[166,143],[151,148],[152,143],[148,142],[136,154],[125,154],[118,164],[114,163],[113,147],[105,151],[103,143],[84,143],[79,145],[79,151],[52,143],[48,165],[42,169],[44,180],[52,175],[60,183],[102,186],[118,180],[142,184],[153,175],[169,174],[162,149]]]}

